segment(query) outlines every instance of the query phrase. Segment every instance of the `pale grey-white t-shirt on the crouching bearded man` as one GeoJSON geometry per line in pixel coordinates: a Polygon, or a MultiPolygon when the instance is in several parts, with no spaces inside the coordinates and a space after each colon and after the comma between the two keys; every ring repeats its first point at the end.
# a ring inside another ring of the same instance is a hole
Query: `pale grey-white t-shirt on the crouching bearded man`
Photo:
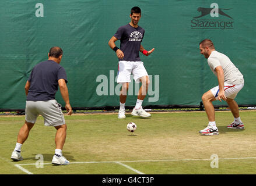
{"type": "Polygon", "coordinates": [[[243,74],[237,69],[232,61],[225,54],[218,51],[212,51],[208,58],[208,65],[210,66],[213,74],[217,76],[215,68],[217,66],[222,66],[224,73],[224,81],[229,84],[242,84],[244,83],[243,74]]]}

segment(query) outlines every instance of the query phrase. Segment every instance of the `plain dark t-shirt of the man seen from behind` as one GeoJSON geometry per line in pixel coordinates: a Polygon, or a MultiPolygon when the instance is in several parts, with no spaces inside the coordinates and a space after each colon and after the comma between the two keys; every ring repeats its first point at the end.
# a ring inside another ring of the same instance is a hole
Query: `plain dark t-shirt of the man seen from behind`
{"type": "Polygon", "coordinates": [[[53,60],[47,60],[34,66],[29,76],[29,94],[27,101],[48,101],[55,99],[58,91],[58,80],[66,78],[64,67],[53,60]]]}

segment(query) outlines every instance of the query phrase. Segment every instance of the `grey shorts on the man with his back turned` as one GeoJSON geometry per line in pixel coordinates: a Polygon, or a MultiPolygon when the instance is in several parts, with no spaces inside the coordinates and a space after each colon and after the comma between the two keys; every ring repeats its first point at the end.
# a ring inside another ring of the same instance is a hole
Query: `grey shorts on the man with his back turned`
{"type": "Polygon", "coordinates": [[[61,104],[55,99],[49,101],[26,101],[25,119],[29,123],[36,123],[39,115],[44,118],[45,126],[61,126],[65,124],[61,104]]]}

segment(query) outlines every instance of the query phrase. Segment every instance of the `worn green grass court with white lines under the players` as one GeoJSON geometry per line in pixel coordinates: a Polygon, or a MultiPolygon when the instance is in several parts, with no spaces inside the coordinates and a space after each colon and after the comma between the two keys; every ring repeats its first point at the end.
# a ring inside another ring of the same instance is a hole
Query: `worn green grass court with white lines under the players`
{"type": "Polygon", "coordinates": [[[22,146],[24,160],[13,162],[24,116],[2,116],[0,174],[256,174],[256,112],[241,111],[240,117],[245,130],[231,130],[226,126],[232,113],[216,112],[220,134],[202,136],[205,112],[152,112],[150,118],[127,113],[122,120],[117,113],[65,116],[63,155],[71,164],[54,166],[54,127],[38,117],[22,146]],[[126,129],[130,121],[138,127],[135,133],[126,129]],[[43,155],[44,164],[36,155],[43,155]],[[212,155],[218,155],[218,168],[211,167],[212,155]]]}

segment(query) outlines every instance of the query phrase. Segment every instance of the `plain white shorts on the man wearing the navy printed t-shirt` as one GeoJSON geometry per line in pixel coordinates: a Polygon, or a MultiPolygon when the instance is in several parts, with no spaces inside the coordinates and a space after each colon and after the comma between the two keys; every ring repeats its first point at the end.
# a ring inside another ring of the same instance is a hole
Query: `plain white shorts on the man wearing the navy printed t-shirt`
{"type": "Polygon", "coordinates": [[[131,82],[131,73],[136,83],[139,83],[139,78],[148,76],[143,62],[127,62],[121,60],[118,62],[117,83],[131,82]]]}

